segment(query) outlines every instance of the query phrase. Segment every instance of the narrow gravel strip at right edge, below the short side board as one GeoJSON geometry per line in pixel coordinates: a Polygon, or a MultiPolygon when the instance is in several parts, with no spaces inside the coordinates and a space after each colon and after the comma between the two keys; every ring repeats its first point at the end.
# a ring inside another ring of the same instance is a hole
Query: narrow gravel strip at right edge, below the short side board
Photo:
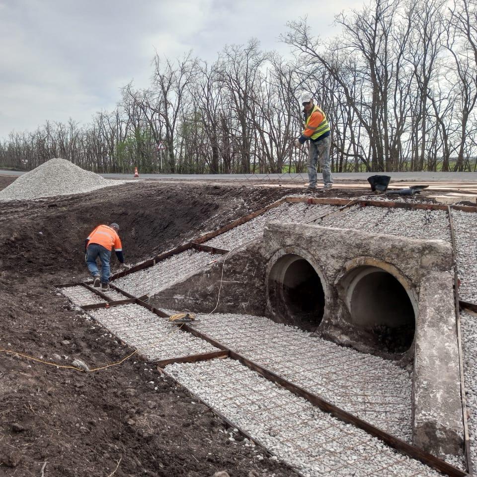
{"type": "Polygon", "coordinates": [[[471,460],[477,462],[477,316],[461,312],[464,381],[471,460]]]}

